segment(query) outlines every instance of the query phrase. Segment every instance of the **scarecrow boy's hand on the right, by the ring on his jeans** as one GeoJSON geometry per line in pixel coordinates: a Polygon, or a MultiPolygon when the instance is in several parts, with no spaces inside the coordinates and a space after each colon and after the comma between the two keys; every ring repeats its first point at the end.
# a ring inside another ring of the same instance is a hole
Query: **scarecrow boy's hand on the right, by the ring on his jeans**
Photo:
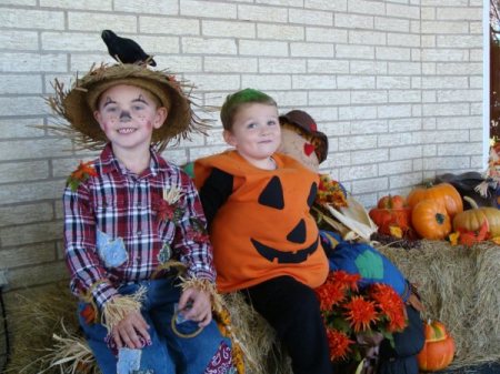
{"type": "Polygon", "coordinates": [[[198,322],[200,327],[207,326],[212,321],[210,294],[206,291],[187,289],[180,296],[179,310],[187,320],[198,322]],[[188,303],[191,305],[187,309],[188,303]]]}

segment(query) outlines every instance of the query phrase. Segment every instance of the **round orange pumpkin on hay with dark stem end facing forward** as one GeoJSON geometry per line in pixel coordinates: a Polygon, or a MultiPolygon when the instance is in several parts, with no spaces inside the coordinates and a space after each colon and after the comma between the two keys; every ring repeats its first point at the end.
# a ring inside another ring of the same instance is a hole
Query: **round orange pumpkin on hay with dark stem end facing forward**
{"type": "Polygon", "coordinates": [[[422,200],[411,211],[414,231],[431,240],[442,240],[451,232],[451,220],[442,201],[422,200]]]}

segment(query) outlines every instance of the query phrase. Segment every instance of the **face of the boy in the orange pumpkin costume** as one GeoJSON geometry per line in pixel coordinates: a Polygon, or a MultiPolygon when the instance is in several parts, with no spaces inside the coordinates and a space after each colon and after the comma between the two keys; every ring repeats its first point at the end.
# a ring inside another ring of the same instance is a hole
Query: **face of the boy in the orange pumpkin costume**
{"type": "Polygon", "coordinates": [[[280,145],[280,122],[274,105],[250,103],[236,113],[231,131],[224,131],[224,140],[250,163],[269,159],[280,145]]]}

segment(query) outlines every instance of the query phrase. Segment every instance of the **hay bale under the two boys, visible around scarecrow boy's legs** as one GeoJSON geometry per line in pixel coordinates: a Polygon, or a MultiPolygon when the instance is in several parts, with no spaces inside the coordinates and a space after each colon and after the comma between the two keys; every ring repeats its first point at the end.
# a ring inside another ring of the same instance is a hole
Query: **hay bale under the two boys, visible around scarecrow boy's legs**
{"type": "MultiPolygon", "coordinates": [[[[100,374],[77,319],[77,299],[57,283],[17,294],[12,352],[6,373],[100,374]],[[89,358],[90,357],[90,358],[89,358]]],[[[246,354],[248,374],[291,374],[274,331],[239,293],[223,296],[246,354]]]]}

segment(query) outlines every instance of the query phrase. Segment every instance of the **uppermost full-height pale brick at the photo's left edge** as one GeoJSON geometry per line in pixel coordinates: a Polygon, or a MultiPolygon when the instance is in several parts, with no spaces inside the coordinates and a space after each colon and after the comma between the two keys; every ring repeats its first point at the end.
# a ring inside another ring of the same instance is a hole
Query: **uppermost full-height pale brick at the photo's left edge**
{"type": "Polygon", "coordinates": [[[64,13],[61,11],[50,11],[50,10],[3,8],[2,11],[0,12],[0,24],[3,28],[11,28],[11,29],[63,30],[64,13]]]}

